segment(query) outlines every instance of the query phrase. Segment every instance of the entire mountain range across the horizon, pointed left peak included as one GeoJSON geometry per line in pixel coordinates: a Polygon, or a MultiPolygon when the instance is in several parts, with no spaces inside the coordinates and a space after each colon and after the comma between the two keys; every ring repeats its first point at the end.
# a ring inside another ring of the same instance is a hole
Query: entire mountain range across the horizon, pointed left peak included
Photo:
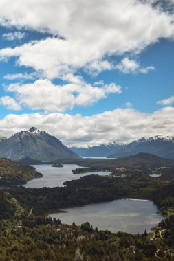
{"type": "Polygon", "coordinates": [[[28,131],[15,133],[11,137],[0,137],[0,157],[13,161],[21,159],[56,161],[58,159],[79,159],[80,156],[119,158],[136,155],[140,152],[174,159],[174,138],[158,135],[143,137],[129,144],[110,142],[85,148],[67,148],[56,137],[34,127],[28,131]]]}

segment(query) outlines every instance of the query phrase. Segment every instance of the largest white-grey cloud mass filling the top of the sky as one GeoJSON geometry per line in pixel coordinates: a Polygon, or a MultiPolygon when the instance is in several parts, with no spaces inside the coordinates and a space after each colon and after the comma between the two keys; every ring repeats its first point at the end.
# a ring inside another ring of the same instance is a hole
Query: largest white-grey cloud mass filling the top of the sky
{"type": "Polygon", "coordinates": [[[138,54],[160,38],[174,36],[173,14],[138,0],[3,0],[0,21],[64,38],[47,38],[0,51],[1,59],[16,56],[19,65],[42,70],[48,78],[84,67],[95,73],[111,69],[109,56],[138,54]]]}

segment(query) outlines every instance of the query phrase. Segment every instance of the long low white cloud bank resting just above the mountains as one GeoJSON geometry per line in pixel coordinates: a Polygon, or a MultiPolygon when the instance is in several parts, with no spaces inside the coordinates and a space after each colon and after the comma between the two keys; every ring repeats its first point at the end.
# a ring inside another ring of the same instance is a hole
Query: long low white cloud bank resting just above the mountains
{"type": "Polygon", "coordinates": [[[55,135],[69,146],[128,142],[144,136],[173,136],[174,108],[165,107],[154,113],[116,109],[90,117],[62,113],[10,114],[0,120],[0,135],[26,130],[31,122],[32,126],[55,135]]]}

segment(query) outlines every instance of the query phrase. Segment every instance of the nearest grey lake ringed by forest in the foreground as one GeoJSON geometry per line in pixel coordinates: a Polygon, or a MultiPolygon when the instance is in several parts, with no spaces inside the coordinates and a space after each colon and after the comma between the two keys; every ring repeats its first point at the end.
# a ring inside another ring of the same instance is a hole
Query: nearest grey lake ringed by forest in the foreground
{"type": "Polygon", "coordinates": [[[152,201],[134,199],[119,199],[63,210],[68,213],[54,213],[50,216],[59,218],[65,224],[75,222],[76,225],[81,225],[89,221],[94,228],[132,234],[143,233],[144,229],[151,231],[164,218],[157,214],[157,206],[152,201]]]}

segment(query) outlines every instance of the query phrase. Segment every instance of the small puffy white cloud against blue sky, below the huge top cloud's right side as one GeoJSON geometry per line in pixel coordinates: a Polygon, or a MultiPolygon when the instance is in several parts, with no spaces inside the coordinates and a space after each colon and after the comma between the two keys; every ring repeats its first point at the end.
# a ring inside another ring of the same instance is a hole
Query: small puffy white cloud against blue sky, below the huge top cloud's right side
{"type": "Polygon", "coordinates": [[[121,71],[122,73],[148,73],[151,70],[154,70],[155,67],[140,67],[140,64],[136,60],[129,59],[125,57],[116,65],[116,69],[121,71]]]}

